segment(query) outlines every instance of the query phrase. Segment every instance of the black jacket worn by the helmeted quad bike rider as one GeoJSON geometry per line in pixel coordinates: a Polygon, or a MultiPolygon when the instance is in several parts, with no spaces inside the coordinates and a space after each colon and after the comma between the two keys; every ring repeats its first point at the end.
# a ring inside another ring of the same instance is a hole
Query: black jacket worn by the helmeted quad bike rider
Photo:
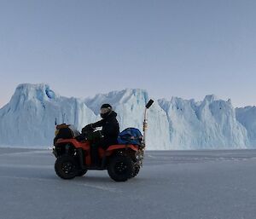
{"type": "Polygon", "coordinates": [[[117,113],[112,111],[107,118],[91,124],[92,128],[102,127],[103,141],[106,145],[117,144],[117,138],[119,135],[119,122],[116,119],[117,113]]]}

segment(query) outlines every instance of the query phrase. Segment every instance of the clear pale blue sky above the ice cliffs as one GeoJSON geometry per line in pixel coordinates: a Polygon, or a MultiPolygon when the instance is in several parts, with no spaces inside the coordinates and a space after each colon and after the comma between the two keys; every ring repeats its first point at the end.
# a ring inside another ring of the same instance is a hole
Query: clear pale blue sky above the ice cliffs
{"type": "Polygon", "coordinates": [[[256,105],[254,0],[0,0],[0,107],[18,84],[256,105]]]}

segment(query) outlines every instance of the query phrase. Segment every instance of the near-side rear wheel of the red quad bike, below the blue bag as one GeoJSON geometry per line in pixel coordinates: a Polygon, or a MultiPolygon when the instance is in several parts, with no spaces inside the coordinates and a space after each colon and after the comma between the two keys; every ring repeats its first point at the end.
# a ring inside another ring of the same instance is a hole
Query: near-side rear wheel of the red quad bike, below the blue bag
{"type": "Polygon", "coordinates": [[[116,182],[125,182],[133,173],[132,160],[126,156],[114,156],[108,165],[108,175],[116,182]]]}

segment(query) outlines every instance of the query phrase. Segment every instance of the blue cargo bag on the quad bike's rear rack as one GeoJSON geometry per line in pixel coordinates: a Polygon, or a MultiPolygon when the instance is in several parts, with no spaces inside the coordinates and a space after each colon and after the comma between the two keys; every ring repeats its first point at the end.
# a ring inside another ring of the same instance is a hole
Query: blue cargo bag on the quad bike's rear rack
{"type": "Polygon", "coordinates": [[[118,136],[119,144],[141,145],[142,141],[143,135],[140,130],[136,128],[127,128],[123,130],[118,136]]]}

